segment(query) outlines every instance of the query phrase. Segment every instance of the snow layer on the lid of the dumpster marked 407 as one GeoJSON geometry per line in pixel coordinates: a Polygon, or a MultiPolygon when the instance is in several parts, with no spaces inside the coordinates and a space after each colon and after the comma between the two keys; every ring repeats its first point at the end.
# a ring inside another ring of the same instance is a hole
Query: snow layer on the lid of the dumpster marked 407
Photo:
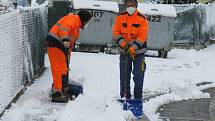
{"type": "Polygon", "coordinates": [[[72,0],[74,9],[94,9],[119,12],[117,2],[95,0],[72,0]]]}

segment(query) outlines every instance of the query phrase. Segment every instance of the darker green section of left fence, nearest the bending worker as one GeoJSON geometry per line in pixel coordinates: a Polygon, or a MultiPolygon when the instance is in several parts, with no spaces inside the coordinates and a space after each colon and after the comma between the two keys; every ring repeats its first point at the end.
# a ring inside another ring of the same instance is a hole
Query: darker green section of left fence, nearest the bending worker
{"type": "Polygon", "coordinates": [[[21,10],[23,39],[25,40],[26,52],[28,52],[26,58],[29,60],[26,71],[29,78],[33,78],[41,67],[44,66],[44,40],[48,32],[47,11],[47,6],[21,10]]]}

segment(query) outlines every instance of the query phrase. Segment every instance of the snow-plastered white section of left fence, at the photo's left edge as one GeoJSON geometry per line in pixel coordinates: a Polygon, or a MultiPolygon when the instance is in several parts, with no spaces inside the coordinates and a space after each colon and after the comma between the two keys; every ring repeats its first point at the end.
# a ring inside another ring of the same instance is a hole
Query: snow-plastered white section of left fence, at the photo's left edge
{"type": "Polygon", "coordinates": [[[23,80],[21,22],[18,11],[0,16],[0,112],[20,90],[23,80]]]}

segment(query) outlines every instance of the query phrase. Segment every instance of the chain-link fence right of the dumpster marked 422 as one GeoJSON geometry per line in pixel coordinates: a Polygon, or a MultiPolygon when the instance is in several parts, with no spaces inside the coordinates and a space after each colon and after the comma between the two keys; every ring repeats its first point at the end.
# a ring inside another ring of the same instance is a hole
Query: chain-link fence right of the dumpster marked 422
{"type": "Polygon", "coordinates": [[[190,44],[197,48],[214,36],[212,5],[174,5],[177,11],[173,44],[190,44]]]}

